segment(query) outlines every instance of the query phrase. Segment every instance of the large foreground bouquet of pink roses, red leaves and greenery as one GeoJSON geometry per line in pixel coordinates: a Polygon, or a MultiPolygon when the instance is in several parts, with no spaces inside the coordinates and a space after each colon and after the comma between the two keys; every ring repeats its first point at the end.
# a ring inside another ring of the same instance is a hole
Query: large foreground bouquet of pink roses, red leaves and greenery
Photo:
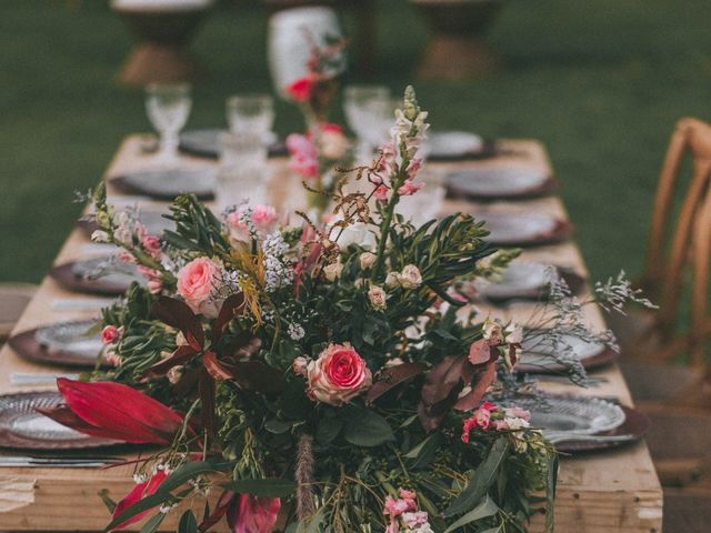
{"type": "Polygon", "coordinates": [[[329,227],[249,204],[219,219],[184,195],[157,237],[94,193],[94,239],[149,283],[103,311],[113,368],[59,380],[47,414],[161,446],[109,530],[150,515],[154,531],[180,503],[181,532],[523,531],[535,502],[552,527],[557,455],[509,395],[521,329],[455,292],[515,252],[467,214],[398,215],[425,119],[408,88],[391,149],[350,172],[370,192],[337,189],[329,227]]]}

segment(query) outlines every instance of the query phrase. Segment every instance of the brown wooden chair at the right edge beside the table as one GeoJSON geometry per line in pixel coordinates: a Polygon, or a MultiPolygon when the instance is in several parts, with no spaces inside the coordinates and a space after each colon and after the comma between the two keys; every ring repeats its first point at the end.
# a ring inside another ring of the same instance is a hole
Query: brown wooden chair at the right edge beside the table
{"type": "Polygon", "coordinates": [[[711,125],[691,118],[680,120],[662,165],[654,198],[645,270],[639,282],[649,296],[659,303],[660,309],[631,312],[621,319],[610,316],[610,326],[618,334],[622,346],[622,371],[638,402],[673,398],[698,405],[709,400],[703,380],[703,343],[711,330],[709,319],[704,319],[711,259],[710,175],[711,125]],[[672,208],[680,189],[680,170],[687,155],[693,162],[693,171],[677,215],[672,208]],[[692,325],[688,332],[678,334],[680,300],[689,269],[693,270],[692,325]],[[690,366],[677,368],[669,364],[673,358],[685,352],[692,352],[690,366]]]}

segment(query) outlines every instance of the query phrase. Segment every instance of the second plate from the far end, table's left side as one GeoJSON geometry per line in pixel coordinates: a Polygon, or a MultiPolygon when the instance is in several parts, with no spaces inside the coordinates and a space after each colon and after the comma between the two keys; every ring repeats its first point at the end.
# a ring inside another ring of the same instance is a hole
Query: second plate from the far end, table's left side
{"type": "Polygon", "coordinates": [[[214,169],[157,169],[129,172],[111,180],[129,194],[146,194],[158,200],[173,200],[178,194],[194,194],[212,200],[217,175],[214,169]]]}

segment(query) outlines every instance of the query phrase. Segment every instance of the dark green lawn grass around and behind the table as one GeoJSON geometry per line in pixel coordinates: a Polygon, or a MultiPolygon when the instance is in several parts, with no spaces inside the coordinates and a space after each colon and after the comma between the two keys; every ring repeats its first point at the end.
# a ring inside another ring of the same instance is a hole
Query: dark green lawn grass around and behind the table
{"type": "MultiPolygon", "coordinates": [[[[150,129],[141,92],[114,83],[131,40],[107,3],[0,4],[0,280],[42,276],[80,210],[73,191],[150,129]]],[[[417,81],[425,28],[404,0],[380,0],[378,20],[378,80],[399,90],[417,81]]],[[[672,127],[711,118],[709,20],[708,0],[513,0],[490,36],[498,73],[418,93],[437,128],[543,140],[593,275],[638,272],[672,127]]],[[[220,6],[193,47],[211,76],[190,127],[222,123],[228,94],[270,87],[264,43],[259,4],[220,6]]],[[[298,124],[281,104],[278,129],[298,124]]]]}

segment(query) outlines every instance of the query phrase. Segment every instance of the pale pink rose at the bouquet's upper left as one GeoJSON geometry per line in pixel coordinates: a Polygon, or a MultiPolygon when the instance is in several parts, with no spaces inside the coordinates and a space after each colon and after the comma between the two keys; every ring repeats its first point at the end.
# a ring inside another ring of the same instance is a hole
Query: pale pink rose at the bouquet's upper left
{"type": "Polygon", "coordinates": [[[208,258],[190,261],[178,272],[178,293],[193,313],[217,318],[221,301],[213,298],[220,283],[221,269],[208,258]]]}

